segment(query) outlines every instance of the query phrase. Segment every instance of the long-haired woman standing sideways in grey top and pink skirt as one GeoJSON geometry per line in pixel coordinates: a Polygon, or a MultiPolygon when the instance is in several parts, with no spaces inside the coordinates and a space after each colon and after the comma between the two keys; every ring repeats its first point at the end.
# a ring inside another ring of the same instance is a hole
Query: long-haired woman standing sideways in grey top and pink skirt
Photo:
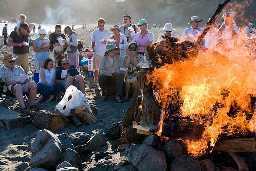
{"type": "Polygon", "coordinates": [[[67,26],[64,28],[64,33],[69,36],[68,41],[63,40],[64,43],[66,43],[67,51],[68,51],[68,59],[71,62],[71,65],[75,65],[80,73],[79,68],[79,57],[78,57],[78,38],[76,32],[73,32],[72,28],[70,26],[67,26]]]}

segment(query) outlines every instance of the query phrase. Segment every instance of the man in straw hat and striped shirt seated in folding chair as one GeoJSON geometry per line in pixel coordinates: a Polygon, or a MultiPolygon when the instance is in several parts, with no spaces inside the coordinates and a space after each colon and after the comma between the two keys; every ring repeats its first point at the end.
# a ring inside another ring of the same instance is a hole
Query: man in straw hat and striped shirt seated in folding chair
{"type": "Polygon", "coordinates": [[[20,74],[26,74],[24,69],[20,66],[15,66],[14,62],[17,57],[13,57],[11,53],[4,55],[1,62],[5,63],[5,66],[0,68],[0,78],[7,84],[4,88],[4,92],[10,90],[19,101],[22,109],[26,108],[23,101],[23,93],[29,92],[30,109],[36,108],[34,102],[36,99],[36,83],[29,81],[29,78],[24,83],[19,81],[20,74]]]}

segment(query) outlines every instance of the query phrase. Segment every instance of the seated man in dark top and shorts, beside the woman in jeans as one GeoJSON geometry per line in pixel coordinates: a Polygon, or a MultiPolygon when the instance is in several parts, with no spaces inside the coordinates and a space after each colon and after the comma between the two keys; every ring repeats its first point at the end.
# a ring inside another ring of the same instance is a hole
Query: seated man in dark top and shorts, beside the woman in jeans
{"type": "Polygon", "coordinates": [[[65,88],[65,91],[70,85],[73,85],[85,94],[85,80],[83,79],[83,76],[79,74],[76,66],[71,66],[70,60],[66,58],[61,62],[62,66],[56,68],[56,83],[62,83],[62,87],[65,88]],[[61,78],[62,70],[68,70],[68,74],[65,78],[61,78]]]}

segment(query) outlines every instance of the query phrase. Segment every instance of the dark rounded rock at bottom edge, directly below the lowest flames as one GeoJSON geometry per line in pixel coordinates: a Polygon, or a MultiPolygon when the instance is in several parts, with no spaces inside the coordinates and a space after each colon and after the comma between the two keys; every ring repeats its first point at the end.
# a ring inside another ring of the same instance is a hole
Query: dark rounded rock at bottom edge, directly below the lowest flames
{"type": "Polygon", "coordinates": [[[201,171],[200,161],[195,157],[181,155],[171,162],[170,171],[201,171]]]}

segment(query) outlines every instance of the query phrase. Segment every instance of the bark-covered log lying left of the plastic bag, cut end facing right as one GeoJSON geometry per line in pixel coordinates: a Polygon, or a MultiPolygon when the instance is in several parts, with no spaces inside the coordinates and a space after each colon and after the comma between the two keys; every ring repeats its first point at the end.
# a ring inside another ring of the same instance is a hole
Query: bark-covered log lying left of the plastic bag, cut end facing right
{"type": "Polygon", "coordinates": [[[61,115],[51,113],[47,110],[36,112],[32,124],[37,128],[47,130],[57,130],[65,127],[65,122],[61,115]]]}

